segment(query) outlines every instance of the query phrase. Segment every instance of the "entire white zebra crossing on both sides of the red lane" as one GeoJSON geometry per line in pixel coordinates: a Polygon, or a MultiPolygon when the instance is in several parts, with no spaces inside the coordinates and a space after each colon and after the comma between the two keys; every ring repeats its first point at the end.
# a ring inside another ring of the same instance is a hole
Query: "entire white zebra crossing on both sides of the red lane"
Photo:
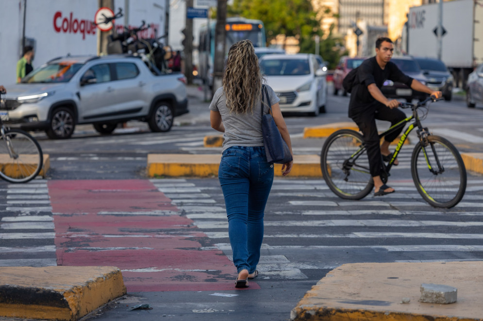
{"type": "MultiPolygon", "coordinates": [[[[204,235],[201,250],[221,250],[232,259],[216,178],[150,182],[204,235]]],[[[322,179],[276,178],[266,207],[259,277],[303,280],[361,261],[483,259],[483,179],[470,177],[463,201],[453,209],[430,207],[408,179],[391,183],[398,193],[347,201],[322,179]]],[[[0,266],[56,265],[47,181],[4,183],[0,195],[0,266]]]]}

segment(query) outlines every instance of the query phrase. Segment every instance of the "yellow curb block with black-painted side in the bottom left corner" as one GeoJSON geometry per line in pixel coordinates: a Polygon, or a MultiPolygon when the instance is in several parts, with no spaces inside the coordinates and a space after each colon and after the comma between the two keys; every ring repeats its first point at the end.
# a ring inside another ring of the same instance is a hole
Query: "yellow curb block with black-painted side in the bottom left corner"
{"type": "Polygon", "coordinates": [[[0,269],[2,317],[75,321],[124,294],[126,287],[116,267],[0,269]]]}

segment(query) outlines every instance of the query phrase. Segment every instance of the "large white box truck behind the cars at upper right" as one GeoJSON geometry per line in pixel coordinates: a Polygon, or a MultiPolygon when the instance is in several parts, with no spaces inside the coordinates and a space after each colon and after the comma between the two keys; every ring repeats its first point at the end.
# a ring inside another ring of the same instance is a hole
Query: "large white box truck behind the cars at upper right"
{"type": "MultiPolygon", "coordinates": [[[[408,48],[412,56],[437,58],[436,28],[438,4],[409,9],[408,48]]],[[[455,85],[466,87],[473,69],[483,63],[483,5],[481,1],[456,0],[443,2],[444,29],[441,60],[450,68],[455,85]]]]}

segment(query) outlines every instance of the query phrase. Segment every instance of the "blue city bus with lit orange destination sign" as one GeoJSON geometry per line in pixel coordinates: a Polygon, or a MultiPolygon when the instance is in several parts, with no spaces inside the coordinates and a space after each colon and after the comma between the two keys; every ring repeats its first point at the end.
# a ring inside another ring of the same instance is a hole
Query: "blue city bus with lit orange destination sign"
{"type": "MultiPolygon", "coordinates": [[[[200,28],[198,46],[199,76],[203,83],[213,85],[213,62],[215,61],[215,26],[216,21],[205,24],[200,28]]],[[[261,20],[243,17],[227,18],[225,54],[230,47],[240,40],[248,39],[254,47],[266,47],[265,27],[261,20]]]]}

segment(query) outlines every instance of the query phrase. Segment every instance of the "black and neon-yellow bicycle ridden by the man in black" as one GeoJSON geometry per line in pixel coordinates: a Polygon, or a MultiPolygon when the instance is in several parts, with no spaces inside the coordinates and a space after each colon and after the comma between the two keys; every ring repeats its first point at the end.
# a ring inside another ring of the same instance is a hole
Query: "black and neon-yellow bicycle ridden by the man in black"
{"type": "MultiPolygon", "coordinates": [[[[466,191],[466,168],[460,153],[447,139],[432,135],[421,120],[429,112],[430,100],[400,103],[401,108],[411,108],[412,115],[387,129],[379,138],[412,122],[401,135],[391,160],[383,164],[381,179],[384,184],[409,133],[417,128],[419,141],[411,156],[411,175],[416,189],[423,199],[436,208],[452,208],[458,204],[466,191]],[[419,117],[418,109],[426,108],[419,117]],[[456,186],[456,187],[455,187],[456,186]]],[[[439,99],[437,99],[439,100],[439,99]]],[[[362,135],[351,129],[335,131],[325,141],[320,154],[320,167],[327,185],[333,193],[343,199],[358,200],[369,194],[374,183],[369,173],[369,161],[362,135]]]]}

